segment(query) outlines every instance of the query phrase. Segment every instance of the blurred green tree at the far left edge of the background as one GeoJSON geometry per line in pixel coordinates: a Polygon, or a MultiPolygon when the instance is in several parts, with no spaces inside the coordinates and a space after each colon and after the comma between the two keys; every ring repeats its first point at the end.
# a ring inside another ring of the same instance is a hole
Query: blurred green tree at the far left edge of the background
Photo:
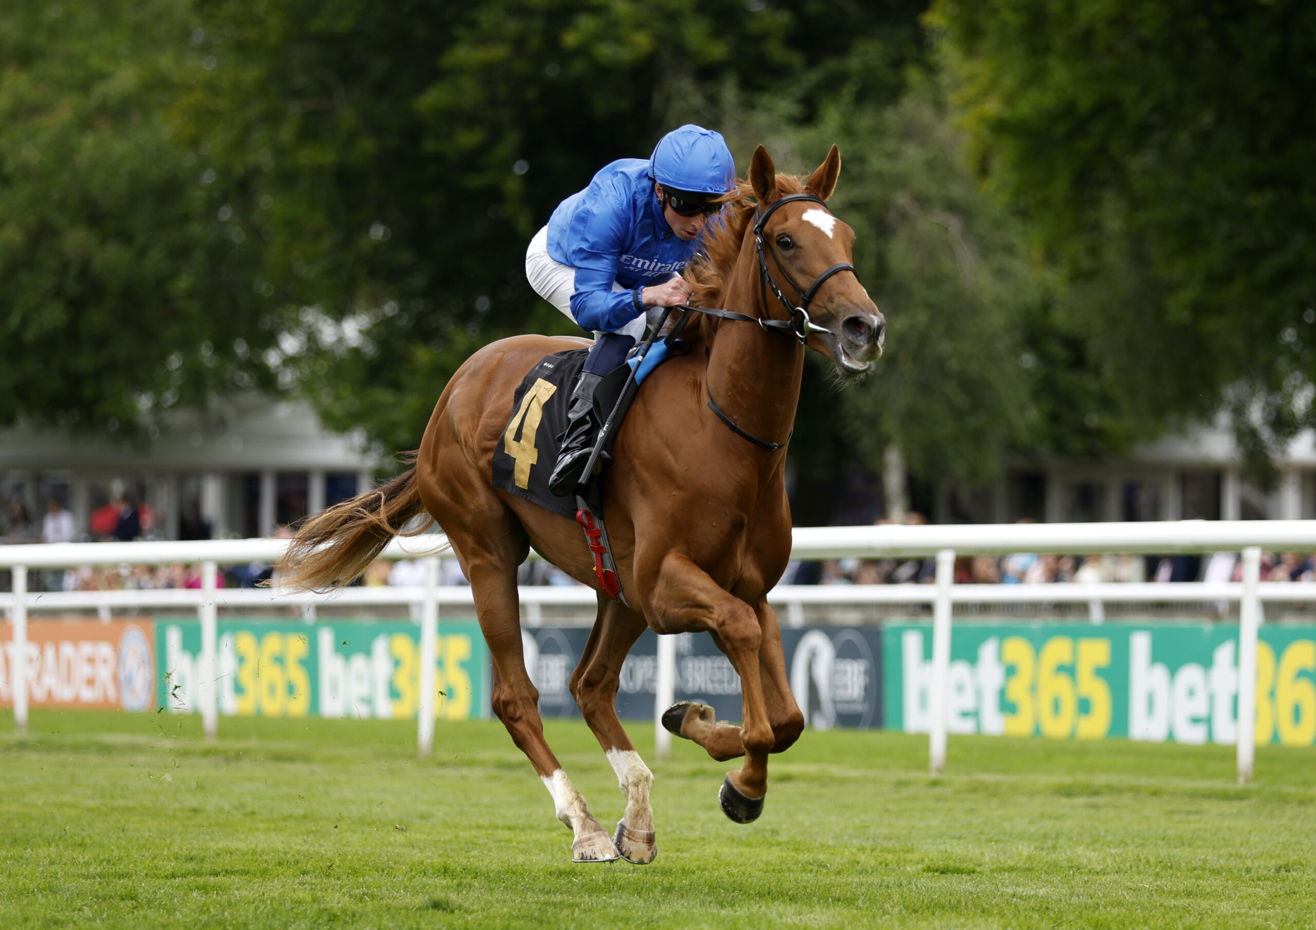
{"type": "Polygon", "coordinates": [[[187,36],[176,3],[0,8],[0,424],[128,435],[255,384],[241,237],[163,120],[187,36]]]}

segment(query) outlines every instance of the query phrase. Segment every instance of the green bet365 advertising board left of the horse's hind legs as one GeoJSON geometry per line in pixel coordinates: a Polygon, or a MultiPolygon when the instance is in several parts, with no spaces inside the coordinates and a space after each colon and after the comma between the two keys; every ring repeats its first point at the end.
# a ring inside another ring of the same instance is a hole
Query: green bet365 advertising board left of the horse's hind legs
{"type": "MultiPolygon", "coordinates": [[[[195,620],[157,622],[158,706],[200,706],[195,620]]],[[[420,627],[415,624],[263,624],[217,626],[216,702],[238,717],[416,717],[420,702],[420,627]]],[[[474,621],[438,625],[436,716],[488,716],[488,652],[474,621]]]]}

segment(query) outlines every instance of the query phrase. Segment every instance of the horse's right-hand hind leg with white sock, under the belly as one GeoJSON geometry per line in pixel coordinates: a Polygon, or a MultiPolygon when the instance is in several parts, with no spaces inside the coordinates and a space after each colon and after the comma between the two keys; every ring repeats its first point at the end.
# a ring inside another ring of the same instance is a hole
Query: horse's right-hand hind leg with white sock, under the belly
{"type": "Polygon", "coordinates": [[[638,866],[647,866],[658,855],[654,812],[649,806],[654,776],[622,729],[616,702],[621,666],[645,629],[645,620],[638,613],[599,595],[599,618],[571,675],[571,696],[603,746],[626,798],[626,812],[617,821],[613,842],[622,859],[638,866]]]}

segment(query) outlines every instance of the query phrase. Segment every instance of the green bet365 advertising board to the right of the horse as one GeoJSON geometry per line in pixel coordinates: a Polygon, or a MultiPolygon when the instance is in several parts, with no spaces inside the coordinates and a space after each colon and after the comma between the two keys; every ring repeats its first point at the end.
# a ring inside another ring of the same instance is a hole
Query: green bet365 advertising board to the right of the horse
{"type": "MultiPolygon", "coordinates": [[[[1234,743],[1238,627],[1211,624],[959,624],[949,731],[1051,739],[1234,743]]],[[[932,626],[883,630],[888,729],[926,733],[932,626]]],[[[1316,741],[1316,627],[1262,626],[1258,745],[1316,741]]]]}

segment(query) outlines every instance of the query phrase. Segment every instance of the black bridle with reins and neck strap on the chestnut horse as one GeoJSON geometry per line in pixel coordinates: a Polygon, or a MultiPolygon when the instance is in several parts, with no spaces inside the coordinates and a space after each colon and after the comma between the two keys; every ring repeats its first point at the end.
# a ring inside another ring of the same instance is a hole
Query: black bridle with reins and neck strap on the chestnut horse
{"type": "MultiPolygon", "coordinates": [[[[786,267],[782,264],[782,259],[778,257],[776,250],[772,247],[772,245],[771,243],[765,245],[763,242],[763,229],[767,226],[767,221],[769,218],[771,218],[772,213],[775,213],[779,207],[804,200],[820,204],[824,208],[826,207],[826,201],[824,201],[821,197],[813,196],[812,193],[788,193],[784,197],[778,197],[776,200],[774,200],[771,204],[767,205],[766,209],[763,208],[762,204],[759,204],[759,207],[754,210],[754,249],[758,251],[758,285],[759,285],[759,301],[763,306],[763,316],[751,317],[745,313],[736,313],[734,310],[725,310],[720,308],[705,308],[705,306],[688,306],[686,304],[670,308],[669,312],[671,309],[676,309],[682,310],[682,314],[680,320],[676,321],[676,325],[672,326],[672,331],[667,334],[666,342],[669,350],[675,347],[676,337],[680,335],[680,330],[686,328],[686,322],[691,318],[690,312],[703,313],[709,317],[720,317],[722,320],[732,320],[736,322],[758,324],[765,333],[783,333],[794,335],[796,339],[800,341],[801,346],[804,345],[805,339],[808,339],[809,333],[830,334],[829,329],[826,329],[825,326],[819,326],[809,318],[809,304],[813,303],[813,297],[817,296],[819,288],[821,288],[822,284],[833,275],[837,275],[842,271],[849,271],[855,278],[858,278],[859,272],[857,272],[854,270],[854,266],[850,264],[849,262],[837,262],[830,268],[828,268],[817,278],[815,278],[813,283],[809,284],[808,288],[800,289],[800,285],[796,284],[795,280],[791,278],[790,272],[786,271],[786,267]],[[779,288],[776,285],[776,281],[772,280],[772,275],[767,268],[767,255],[772,257],[772,263],[776,266],[776,270],[780,272],[782,278],[784,278],[786,283],[790,284],[791,288],[795,291],[795,293],[800,296],[799,304],[787,300],[786,295],[782,293],[782,288],[779,288]],[[769,304],[767,300],[769,291],[776,295],[776,299],[782,303],[782,306],[786,308],[787,313],[786,320],[776,320],[771,316],[771,305],[769,304]]],[[[658,329],[662,329],[662,324],[658,325],[658,329]]],[[[784,449],[786,443],[791,441],[791,437],[788,435],[786,437],[784,442],[769,442],[767,439],[759,439],[758,437],[746,433],[740,426],[737,426],[736,422],[730,417],[728,417],[726,413],[720,406],[717,406],[717,403],[713,400],[713,396],[711,393],[708,396],[708,408],[713,413],[716,413],[717,417],[724,424],[726,424],[733,433],[745,439],[749,439],[759,449],[766,449],[769,451],[775,453],[779,449],[784,449]]],[[[795,435],[795,430],[791,430],[791,435],[795,435]]]]}

